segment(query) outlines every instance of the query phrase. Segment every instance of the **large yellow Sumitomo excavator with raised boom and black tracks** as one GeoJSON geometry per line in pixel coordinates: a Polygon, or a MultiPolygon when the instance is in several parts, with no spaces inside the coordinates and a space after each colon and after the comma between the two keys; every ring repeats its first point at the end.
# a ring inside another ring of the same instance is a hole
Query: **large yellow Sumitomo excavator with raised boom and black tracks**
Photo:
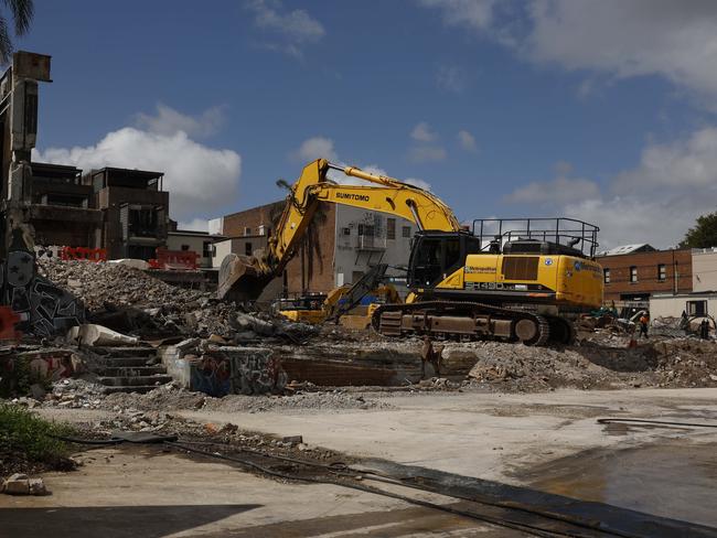
{"type": "Polygon", "coordinates": [[[411,293],[405,303],[375,309],[372,326],[381,334],[568,344],[570,316],[602,304],[597,226],[570,218],[477,219],[468,229],[429,191],[324,159],[309,163],[292,185],[267,251],[223,260],[220,298],[255,298],[281,275],[321,202],[418,227],[408,262],[411,293]],[[336,183],[331,170],[368,184],[336,183]]]}

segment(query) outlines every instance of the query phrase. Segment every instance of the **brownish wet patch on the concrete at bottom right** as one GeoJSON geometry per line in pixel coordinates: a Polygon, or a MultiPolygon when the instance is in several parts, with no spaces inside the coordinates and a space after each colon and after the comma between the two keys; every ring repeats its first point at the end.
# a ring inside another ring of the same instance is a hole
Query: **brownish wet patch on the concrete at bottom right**
{"type": "Polygon", "coordinates": [[[595,450],[531,471],[531,486],[717,527],[717,444],[595,450]]]}

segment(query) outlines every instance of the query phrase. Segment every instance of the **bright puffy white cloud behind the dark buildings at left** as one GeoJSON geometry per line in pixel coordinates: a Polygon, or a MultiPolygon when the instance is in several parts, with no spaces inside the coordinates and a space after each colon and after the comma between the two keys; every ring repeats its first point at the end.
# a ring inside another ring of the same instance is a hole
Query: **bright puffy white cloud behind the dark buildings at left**
{"type": "Polygon", "coordinates": [[[132,127],[109,132],[95,146],[49,148],[36,151],[33,159],[83,170],[118,166],[164,172],[170,216],[179,220],[236,200],[242,172],[242,158],[235,151],[208,148],[183,131],[159,134],[132,127]]]}

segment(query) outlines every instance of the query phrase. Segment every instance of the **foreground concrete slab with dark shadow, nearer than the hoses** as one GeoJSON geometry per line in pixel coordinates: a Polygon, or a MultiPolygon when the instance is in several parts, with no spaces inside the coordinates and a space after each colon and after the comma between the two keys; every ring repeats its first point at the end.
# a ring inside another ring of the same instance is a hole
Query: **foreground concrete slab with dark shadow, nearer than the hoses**
{"type": "Polygon", "coordinates": [[[52,495],[0,495],[0,536],[211,538],[520,536],[471,519],[332,485],[280,483],[152,446],[79,454],[44,475],[52,495]],[[42,534],[41,532],[41,534],[42,534]]]}

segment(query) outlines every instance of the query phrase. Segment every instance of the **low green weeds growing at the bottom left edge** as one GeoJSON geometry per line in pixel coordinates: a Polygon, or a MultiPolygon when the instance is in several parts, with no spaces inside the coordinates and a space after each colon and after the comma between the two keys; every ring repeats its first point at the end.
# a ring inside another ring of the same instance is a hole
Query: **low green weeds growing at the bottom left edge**
{"type": "Polygon", "coordinates": [[[0,402],[0,454],[19,452],[31,461],[52,462],[67,455],[65,442],[51,435],[69,435],[68,426],[41,419],[25,408],[0,402]]]}

